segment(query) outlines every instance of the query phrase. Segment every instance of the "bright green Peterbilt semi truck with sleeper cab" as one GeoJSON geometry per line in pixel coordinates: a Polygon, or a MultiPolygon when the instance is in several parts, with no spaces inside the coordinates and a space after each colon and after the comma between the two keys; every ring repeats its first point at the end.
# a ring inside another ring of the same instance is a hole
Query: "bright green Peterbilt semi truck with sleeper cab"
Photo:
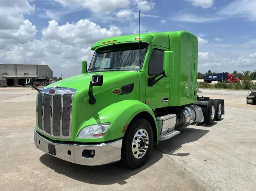
{"type": "Polygon", "coordinates": [[[212,125],[225,112],[223,99],[197,95],[198,39],[190,32],[113,37],[91,50],[82,74],[36,88],[34,141],[45,153],[135,169],[153,143],[192,123],[212,125]]]}

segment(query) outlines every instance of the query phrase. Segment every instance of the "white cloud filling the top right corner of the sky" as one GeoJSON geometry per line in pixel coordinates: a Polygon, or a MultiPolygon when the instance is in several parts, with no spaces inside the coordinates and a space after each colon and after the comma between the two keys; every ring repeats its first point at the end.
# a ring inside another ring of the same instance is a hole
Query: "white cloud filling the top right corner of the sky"
{"type": "Polygon", "coordinates": [[[256,0],[237,0],[221,8],[219,14],[240,15],[250,20],[256,20],[256,0]]]}

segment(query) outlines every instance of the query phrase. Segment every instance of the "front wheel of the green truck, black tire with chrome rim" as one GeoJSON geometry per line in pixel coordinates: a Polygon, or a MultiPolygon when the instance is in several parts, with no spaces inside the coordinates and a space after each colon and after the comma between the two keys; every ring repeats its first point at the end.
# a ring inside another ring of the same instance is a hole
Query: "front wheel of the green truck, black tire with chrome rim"
{"type": "Polygon", "coordinates": [[[121,163],[132,169],[143,166],[150,157],[153,141],[152,126],[146,119],[139,118],[130,123],[123,138],[121,163]],[[141,152],[142,150],[145,152],[141,152]],[[133,154],[136,152],[137,154],[133,154]]]}

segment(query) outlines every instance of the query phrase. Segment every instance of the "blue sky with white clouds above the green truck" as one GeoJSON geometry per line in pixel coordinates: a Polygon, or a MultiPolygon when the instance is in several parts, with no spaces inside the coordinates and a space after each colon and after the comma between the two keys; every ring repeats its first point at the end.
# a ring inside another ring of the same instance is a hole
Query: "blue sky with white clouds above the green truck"
{"type": "Polygon", "coordinates": [[[186,30],[198,36],[198,71],[256,69],[256,0],[5,0],[0,63],[47,64],[78,74],[97,40],[186,30]],[[14,6],[15,5],[15,6],[14,6]]]}

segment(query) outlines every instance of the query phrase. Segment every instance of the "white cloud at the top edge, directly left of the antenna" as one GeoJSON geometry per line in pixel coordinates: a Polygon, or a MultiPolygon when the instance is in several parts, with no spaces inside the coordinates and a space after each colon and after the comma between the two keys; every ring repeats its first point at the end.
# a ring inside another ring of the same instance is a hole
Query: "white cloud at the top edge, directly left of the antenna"
{"type": "Polygon", "coordinates": [[[54,0],[64,7],[82,7],[95,13],[110,13],[117,8],[128,8],[129,0],[54,0]]]}

